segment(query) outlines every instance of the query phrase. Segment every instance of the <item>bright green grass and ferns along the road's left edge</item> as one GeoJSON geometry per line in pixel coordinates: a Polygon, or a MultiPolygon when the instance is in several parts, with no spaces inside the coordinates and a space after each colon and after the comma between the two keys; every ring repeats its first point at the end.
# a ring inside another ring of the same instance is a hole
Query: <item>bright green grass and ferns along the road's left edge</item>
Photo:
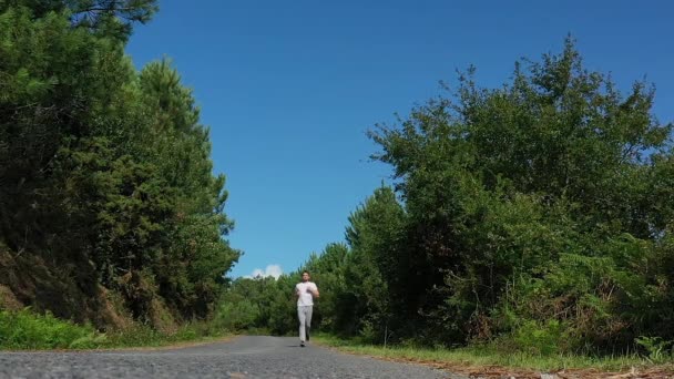
{"type": "Polygon", "coordinates": [[[187,324],[170,335],[143,325],[103,334],[90,325],[76,325],[51,314],[38,315],[28,308],[0,310],[0,349],[6,350],[162,347],[212,341],[228,336],[231,334],[226,330],[206,322],[187,324]]]}

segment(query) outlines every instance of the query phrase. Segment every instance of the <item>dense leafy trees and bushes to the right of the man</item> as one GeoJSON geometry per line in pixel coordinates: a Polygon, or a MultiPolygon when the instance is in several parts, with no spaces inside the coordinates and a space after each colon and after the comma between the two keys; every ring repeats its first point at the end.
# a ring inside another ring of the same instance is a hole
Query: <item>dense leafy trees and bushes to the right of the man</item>
{"type": "Polygon", "coordinates": [[[320,327],[534,354],[674,339],[672,124],[653,100],[646,83],[625,93],[584,69],[569,39],[501,88],[471,68],[378,125],[374,158],[395,187],[351,214],[346,246],[307,263],[320,327]]]}

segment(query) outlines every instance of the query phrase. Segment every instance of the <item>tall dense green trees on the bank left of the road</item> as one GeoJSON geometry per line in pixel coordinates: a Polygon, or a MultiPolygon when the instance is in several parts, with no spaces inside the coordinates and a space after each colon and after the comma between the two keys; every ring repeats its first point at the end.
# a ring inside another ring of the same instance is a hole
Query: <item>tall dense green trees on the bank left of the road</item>
{"type": "Polygon", "coordinates": [[[171,328],[219,296],[239,253],[208,130],[167,61],[124,54],[155,10],[0,1],[0,306],[171,328]]]}

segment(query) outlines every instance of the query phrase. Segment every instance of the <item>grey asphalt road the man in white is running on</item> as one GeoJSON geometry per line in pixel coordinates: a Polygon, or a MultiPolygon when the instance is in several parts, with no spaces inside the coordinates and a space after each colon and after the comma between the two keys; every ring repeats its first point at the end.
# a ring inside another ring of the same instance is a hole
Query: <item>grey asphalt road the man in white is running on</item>
{"type": "Polygon", "coordinates": [[[0,378],[463,378],[351,356],[296,338],[237,337],[168,350],[0,352],[0,378]]]}

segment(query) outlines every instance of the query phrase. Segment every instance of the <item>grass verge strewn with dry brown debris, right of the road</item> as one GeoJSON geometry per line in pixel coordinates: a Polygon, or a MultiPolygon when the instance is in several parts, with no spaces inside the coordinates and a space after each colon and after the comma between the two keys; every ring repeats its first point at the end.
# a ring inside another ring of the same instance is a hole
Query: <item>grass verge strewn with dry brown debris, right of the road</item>
{"type": "MultiPolygon", "coordinates": [[[[590,357],[574,355],[534,356],[524,352],[506,354],[494,347],[466,347],[466,348],[421,348],[394,346],[384,348],[361,344],[357,340],[339,339],[329,335],[316,336],[316,341],[326,346],[335,347],[341,351],[379,357],[391,360],[406,360],[428,363],[450,370],[479,372],[480,368],[494,370],[501,368],[503,371],[524,370],[538,372],[559,372],[568,370],[579,371],[624,371],[633,368],[646,370],[664,370],[663,372],[674,373],[674,361],[661,361],[654,365],[653,361],[637,355],[615,356],[615,357],[590,357]]],[[[582,372],[581,372],[582,373],[582,372]]]]}

